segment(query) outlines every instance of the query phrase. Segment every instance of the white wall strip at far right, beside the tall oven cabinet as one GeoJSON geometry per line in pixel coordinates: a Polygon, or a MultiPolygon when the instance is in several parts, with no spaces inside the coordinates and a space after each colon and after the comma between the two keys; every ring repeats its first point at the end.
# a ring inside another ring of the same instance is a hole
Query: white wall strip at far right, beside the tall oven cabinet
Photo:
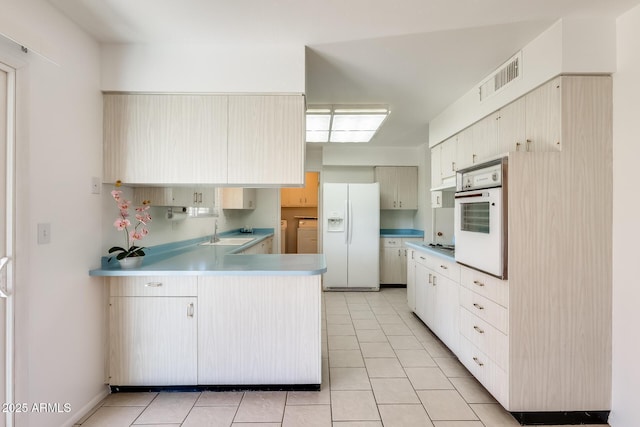
{"type": "Polygon", "coordinates": [[[613,427],[638,425],[640,390],[640,199],[633,172],[640,159],[640,6],[617,22],[613,76],[613,427]],[[629,197],[632,195],[632,197],[629,197]]]}

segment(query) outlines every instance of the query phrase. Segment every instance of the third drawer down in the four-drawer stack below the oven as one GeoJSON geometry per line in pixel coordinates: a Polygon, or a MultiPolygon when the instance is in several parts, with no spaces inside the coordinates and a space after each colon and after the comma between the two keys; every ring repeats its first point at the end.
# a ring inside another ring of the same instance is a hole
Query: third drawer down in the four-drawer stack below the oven
{"type": "Polygon", "coordinates": [[[508,336],[463,307],[460,307],[460,334],[485,353],[498,367],[508,371],[508,336]]]}

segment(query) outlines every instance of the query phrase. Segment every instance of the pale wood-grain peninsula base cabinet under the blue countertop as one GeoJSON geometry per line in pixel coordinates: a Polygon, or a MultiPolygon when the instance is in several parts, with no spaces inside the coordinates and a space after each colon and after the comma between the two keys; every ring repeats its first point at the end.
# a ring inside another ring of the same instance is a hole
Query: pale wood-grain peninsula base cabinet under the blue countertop
{"type": "Polygon", "coordinates": [[[110,277],[108,382],[319,386],[320,278],[110,277]]]}

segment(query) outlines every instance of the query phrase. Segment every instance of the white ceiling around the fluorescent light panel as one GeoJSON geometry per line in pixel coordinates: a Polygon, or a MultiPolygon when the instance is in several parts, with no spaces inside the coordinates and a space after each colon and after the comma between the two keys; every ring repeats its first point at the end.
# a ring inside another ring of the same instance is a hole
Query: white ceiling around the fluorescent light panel
{"type": "Polygon", "coordinates": [[[386,104],[367,146],[417,146],[446,106],[560,18],[640,0],[49,0],[105,43],[307,46],[308,104],[386,104]]]}

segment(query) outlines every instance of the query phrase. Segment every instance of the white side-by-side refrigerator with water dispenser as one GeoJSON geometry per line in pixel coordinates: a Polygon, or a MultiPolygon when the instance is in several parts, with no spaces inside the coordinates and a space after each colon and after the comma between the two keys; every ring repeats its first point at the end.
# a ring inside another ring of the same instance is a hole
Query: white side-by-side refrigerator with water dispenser
{"type": "Polygon", "coordinates": [[[322,187],[324,289],[380,289],[380,186],[322,187]]]}

